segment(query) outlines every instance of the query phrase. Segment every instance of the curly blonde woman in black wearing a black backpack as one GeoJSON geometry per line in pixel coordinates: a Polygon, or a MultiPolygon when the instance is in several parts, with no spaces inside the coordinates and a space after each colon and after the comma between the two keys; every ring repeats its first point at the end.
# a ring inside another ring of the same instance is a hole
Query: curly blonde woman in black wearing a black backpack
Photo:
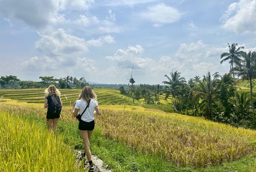
{"type": "Polygon", "coordinates": [[[59,92],[55,85],[50,85],[47,89],[44,90],[44,93],[44,108],[47,108],[47,129],[48,131],[53,130],[54,133],[56,133],[61,110],[56,111],[56,109],[54,109],[55,107],[53,101],[55,98],[55,100],[57,100],[62,107],[61,92],[59,92]]]}

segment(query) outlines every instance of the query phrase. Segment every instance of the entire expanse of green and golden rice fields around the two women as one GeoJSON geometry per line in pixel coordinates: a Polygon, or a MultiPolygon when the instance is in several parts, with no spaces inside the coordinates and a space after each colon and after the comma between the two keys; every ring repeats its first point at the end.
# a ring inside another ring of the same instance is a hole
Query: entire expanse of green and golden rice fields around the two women
{"type": "MultiPolygon", "coordinates": [[[[246,87],[246,86],[245,86],[246,87]]],[[[0,90],[0,171],[84,171],[75,149],[83,143],[71,106],[80,89],[60,89],[58,134],[45,129],[44,89],[0,90]],[[56,147],[54,151],[49,149],[56,147]]],[[[93,155],[112,171],[256,171],[256,131],[201,116],[164,111],[94,88],[102,114],[95,118],[93,155]]],[[[172,109],[173,110],[173,109],[172,109]]]]}

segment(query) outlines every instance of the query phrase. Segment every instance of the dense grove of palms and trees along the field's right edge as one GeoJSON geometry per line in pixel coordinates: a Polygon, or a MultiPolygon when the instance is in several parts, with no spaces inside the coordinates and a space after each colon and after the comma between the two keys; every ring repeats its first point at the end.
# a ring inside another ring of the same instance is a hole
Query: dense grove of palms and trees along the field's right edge
{"type": "Polygon", "coordinates": [[[144,98],[148,104],[158,104],[159,94],[164,94],[166,99],[172,98],[174,112],[256,129],[253,93],[256,52],[245,52],[237,43],[228,46],[229,52],[221,54],[220,63],[228,61],[230,70],[223,76],[208,72],[202,78],[194,76],[186,81],[180,72],[172,71],[170,76],[165,75],[163,86],[133,85],[127,89],[120,87],[120,92],[136,99],[144,98]],[[236,86],[239,79],[248,80],[250,92],[239,90],[236,86]]]}

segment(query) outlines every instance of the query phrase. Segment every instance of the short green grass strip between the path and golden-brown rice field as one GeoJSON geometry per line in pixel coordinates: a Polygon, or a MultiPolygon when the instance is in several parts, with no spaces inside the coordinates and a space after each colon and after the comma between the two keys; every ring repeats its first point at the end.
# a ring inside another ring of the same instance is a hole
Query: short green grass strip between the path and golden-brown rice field
{"type": "MultiPolygon", "coordinates": [[[[35,120],[35,117],[33,120],[35,120]]],[[[44,119],[38,118],[37,121],[44,125],[44,119]]],[[[76,123],[61,121],[59,132],[66,133],[66,142],[75,144],[77,148],[80,148],[82,146],[81,140],[74,126],[76,126],[76,123]]],[[[161,158],[159,159],[158,156],[133,150],[116,140],[106,139],[101,129],[98,128],[95,130],[92,142],[95,143],[92,144],[95,155],[109,164],[113,171],[155,171],[159,169],[159,166],[162,167],[163,171],[256,171],[255,153],[236,162],[224,163],[222,166],[194,170],[176,167],[161,158]]]]}

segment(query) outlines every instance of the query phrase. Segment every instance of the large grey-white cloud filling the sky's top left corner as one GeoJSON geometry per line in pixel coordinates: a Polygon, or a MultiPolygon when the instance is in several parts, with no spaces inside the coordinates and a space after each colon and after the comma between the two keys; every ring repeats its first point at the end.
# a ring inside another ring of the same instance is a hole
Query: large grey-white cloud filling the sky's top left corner
{"type": "Polygon", "coordinates": [[[121,28],[115,24],[115,14],[112,10],[108,10],[104,20],[84,14],[84,11],[90,9],[92,5],[94,5],[93,0],[0,0],[0,13],[10,23],[19,20],[37,31],[44,31],[48,27],[60,28],[60,26],[72,30],[77,28],[84,30],[86,27],[94,26],[98,31],[105,33],[121,31],[121,28]],[[70,19],[68,16],[73,13],[79,15],[70,19]]]}

